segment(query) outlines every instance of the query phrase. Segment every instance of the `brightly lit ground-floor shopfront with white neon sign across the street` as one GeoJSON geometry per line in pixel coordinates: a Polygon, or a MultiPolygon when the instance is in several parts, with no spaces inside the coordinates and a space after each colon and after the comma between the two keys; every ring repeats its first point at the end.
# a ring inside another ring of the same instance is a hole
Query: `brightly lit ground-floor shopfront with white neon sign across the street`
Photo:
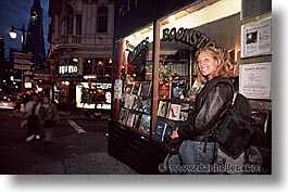
{"type": "MultiPolygon", "coordinates": [[[[91,100],[89,97],[90,93],[93,94],[95,91],[98,91],[99,94],[107,94],[111,101],[111,65],[112,59],[62,59],[55,71],[53,87],[54,101],[59,107],[76,110],[78,113],[84,110],[111,110],[111,102],[107,103],[103,99],[100,102],[91,100]],[[90,93],[87,94],[88,92],[90,93]],[[82,98],[87,99],[82,100],[82,98]]],[[[96,97],[93,98],[96,99],[96,97]]],[[[99,98],[100,95],[98,100],[99,98]]]]}

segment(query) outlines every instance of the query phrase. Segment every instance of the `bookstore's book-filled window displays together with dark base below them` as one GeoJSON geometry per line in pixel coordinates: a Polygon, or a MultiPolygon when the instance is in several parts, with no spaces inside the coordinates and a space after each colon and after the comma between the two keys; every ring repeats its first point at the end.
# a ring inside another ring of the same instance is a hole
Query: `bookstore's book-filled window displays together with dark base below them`
{"type": "Polygon", "coordinates": [[[186,100],[191,85],[190,52],[161,54],[155,67],[148,39],[138,46],[125,43],[118,108],[112,111],[117,115],[109,125],[109,152],[139,172],[156,174],[166,156],[164,138],[188,120],[192,111],[186,100]]]}

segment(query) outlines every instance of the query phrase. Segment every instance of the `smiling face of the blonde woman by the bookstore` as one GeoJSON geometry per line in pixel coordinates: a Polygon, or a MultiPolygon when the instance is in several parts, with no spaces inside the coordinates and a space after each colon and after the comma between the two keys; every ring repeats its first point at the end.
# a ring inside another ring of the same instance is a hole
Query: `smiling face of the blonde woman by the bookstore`
{"type": "Polygon", "coordinates": [[[213,74],[216,72],[220,64],[209,51],[202,51],[198,55],[197,63],[201,74],[208,77],[209,80],[213,78],[213,74]]]}

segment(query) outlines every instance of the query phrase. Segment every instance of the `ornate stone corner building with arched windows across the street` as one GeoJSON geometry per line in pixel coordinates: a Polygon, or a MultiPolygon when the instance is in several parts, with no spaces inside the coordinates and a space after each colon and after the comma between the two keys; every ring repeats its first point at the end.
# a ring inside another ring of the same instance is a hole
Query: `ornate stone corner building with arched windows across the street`
{"type": "Polygon", "coordinates": [[[50,0],[50,51],[54,99],[71,103],[84,77],[110,81],[112,74],[114,1],[50,0]]]}

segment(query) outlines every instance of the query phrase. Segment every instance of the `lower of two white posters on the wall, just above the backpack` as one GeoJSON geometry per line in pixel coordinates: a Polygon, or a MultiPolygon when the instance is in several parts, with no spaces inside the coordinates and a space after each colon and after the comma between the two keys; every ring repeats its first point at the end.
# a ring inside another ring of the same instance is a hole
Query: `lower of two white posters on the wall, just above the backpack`
{"type": "Polygon", "coordinates": [[[271,62],[239,65],[239,91],[250,99],[271,99],[271,62]]]}

